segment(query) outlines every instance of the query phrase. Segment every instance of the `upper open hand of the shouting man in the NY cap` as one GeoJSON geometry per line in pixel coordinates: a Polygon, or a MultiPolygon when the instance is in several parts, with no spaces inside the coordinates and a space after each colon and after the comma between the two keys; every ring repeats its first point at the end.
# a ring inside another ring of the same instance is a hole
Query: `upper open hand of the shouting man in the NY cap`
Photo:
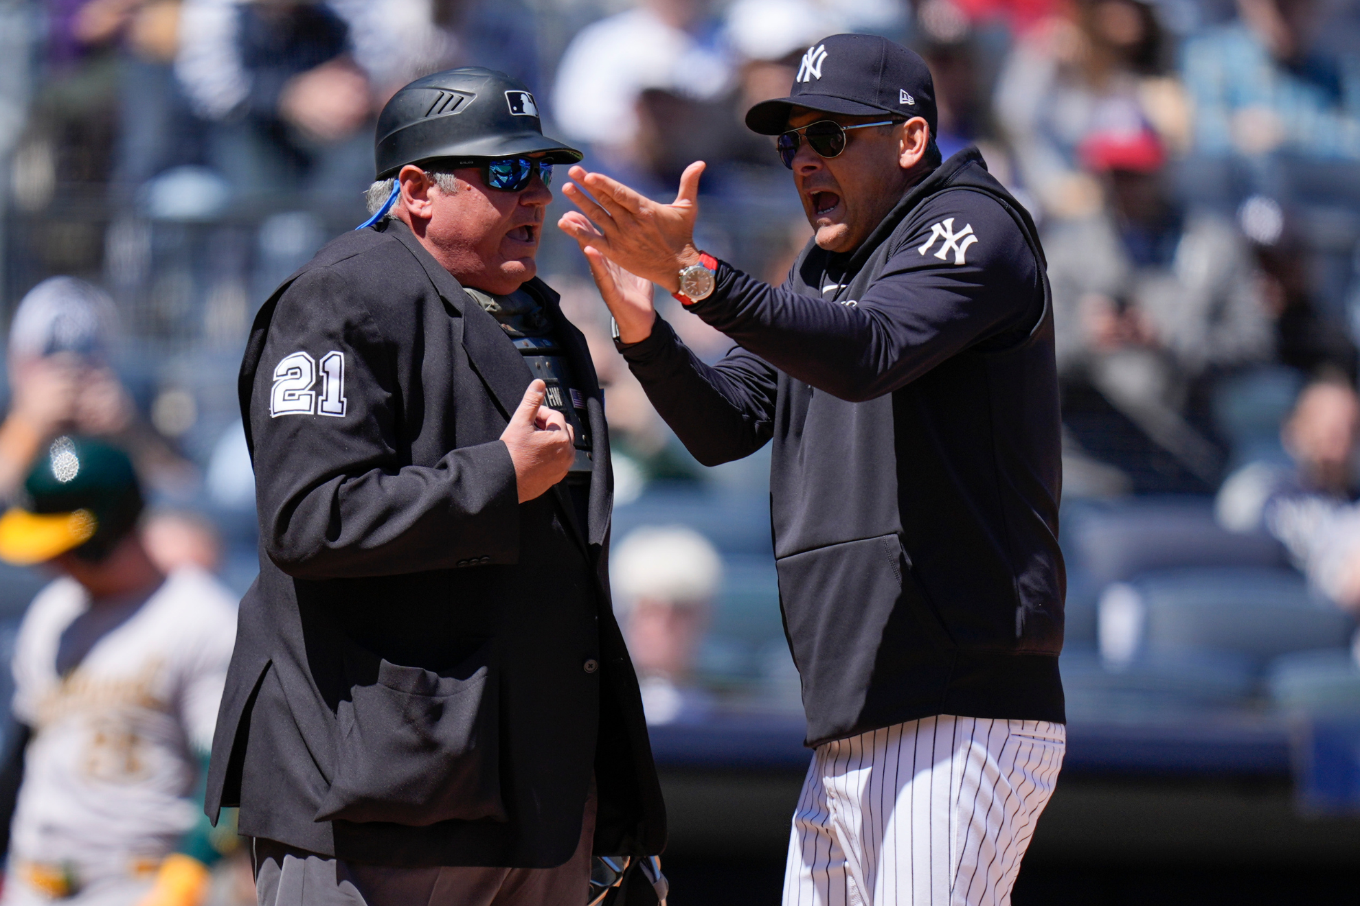
{"type": "MultiPolygon", "coordinates": [[[[664,205],[617,179],[588,173],[585,167],[571,167],[568,175],[581,185],[568,182],[562,187],[562,194],[581,211],[562,215],[558,228],[582,249],[594,249],[623,270],[650,280],[668,292],[676,292],[680,288],[680,270],[699,264],[699,250],[694,247],[694,223],[699,217],[699,177],[703,168],[702,160],[685,167],[676,200],[664,205]],[[582,192],[582,186],[594,200],[582,192]]],[[[617,314],[615,318],[617,319],[617,314]]],[[[622,321],[619,327],[622,330],[622,321]]],[[[650,322],[647,330],[650,331],[650,322]]]]}

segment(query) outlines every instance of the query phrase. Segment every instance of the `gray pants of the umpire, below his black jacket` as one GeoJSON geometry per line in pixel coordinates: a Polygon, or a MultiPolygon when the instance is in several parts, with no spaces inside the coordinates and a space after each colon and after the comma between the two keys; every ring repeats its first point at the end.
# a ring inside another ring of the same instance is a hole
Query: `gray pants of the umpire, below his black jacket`
{"type": "Polygon", "coordinates": [[[578,906],[590,886],[594,797],[577,852],[556,868],[389,868],[252,841],[260,906],[578,906]]]}

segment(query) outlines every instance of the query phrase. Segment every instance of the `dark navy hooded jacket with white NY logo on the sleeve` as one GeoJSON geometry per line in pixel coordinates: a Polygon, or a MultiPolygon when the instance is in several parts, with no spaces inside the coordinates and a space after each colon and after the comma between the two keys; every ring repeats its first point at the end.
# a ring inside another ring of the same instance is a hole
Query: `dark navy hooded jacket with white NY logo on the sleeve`
{"type": "Polygon", "coordinates": [[[707,365],[657,319],[620,348],[700,462],[772,439],[808,744],[932,714],[1062,723],[1053,307],[1034,223],[976,149],[853,253],[809,242],[778,289],[719,265],[691,311],[740,346],[707,365]]]}

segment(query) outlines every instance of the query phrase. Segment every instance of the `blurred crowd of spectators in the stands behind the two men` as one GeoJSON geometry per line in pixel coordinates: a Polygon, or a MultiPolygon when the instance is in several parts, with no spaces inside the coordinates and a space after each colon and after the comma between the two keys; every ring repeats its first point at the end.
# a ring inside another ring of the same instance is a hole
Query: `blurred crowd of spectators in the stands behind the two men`
{"type": "MultiPolygon", "coordinates": [[[[23,497],[60,437],[102,439],[151,504],[155,569],[239,594],[256,556],[246,327],[363,220],[393,91],[505,71],[545,132],[656,197],[707,160],[700,243],[779,283],[811,230],[741,117],[838,31],[917,49],[944,155],[978,145],[1040,225],[1069,511],[1212,497],[1217,527],[1274,539],[1310,600],[1360,613],[1360,0],[0,0],[0,497],[23,497]]],[[[759,459],[704,470],[651,410],[574,244],[549,231],[540,261],[608,388],[620,507],[688,488],[763,513],[759,459]]],[[[702,356],[725,352],[658,304],[702,356]]],[[[796,701],[772,581],[751,566],[764,516],[732,541],[741,519],[695,531],[642,512],[660,524],[619,532],[615,577],[649,720],[718,706],[704,675],[736,670],[722,633],[749,630],[752,670],[796,701]],[[740,600],[770,619],[741,623],[740,600]]],[[[31,583],[0,585],[16,618],[31,583]]],[[[1104,653],[1132,651],[1110,626],[1104,653]]]]}

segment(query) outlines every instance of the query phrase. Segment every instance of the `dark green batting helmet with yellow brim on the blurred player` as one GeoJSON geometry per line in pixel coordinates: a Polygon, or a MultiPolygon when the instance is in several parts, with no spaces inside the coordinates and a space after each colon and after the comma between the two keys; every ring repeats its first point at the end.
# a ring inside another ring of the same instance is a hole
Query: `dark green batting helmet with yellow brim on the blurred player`
{"type": "Polygon", "coordinates": [[[141,489],[128,454],[92,437],[57,437],[0,516],[0,560],[41,564],[67,551],[103,560],[137,523],[141,489]]]}

